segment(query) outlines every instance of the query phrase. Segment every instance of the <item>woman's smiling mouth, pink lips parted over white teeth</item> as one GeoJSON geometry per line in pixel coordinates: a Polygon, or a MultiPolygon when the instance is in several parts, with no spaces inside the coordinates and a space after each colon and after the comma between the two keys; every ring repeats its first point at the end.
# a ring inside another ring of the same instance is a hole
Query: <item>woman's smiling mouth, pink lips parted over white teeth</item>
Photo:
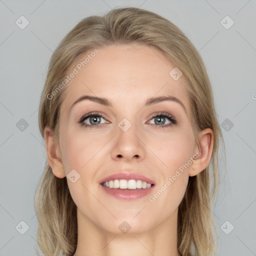
{"type": "Polygon", "coordinates": [[[151,192],[155,183],[139,174],[121,172],[110,175],[100,181],[100,187],[116,199],[134,200],[151,192]]]}

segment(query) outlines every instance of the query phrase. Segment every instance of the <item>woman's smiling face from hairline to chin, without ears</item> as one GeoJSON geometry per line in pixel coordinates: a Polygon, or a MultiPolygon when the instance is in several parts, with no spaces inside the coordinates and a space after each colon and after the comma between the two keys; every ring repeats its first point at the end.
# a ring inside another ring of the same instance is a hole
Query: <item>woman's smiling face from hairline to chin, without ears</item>
{"type": "Polygon", "coordinates": [[[148,231],[177,212],[196,156],[183,77],[174,80],[175,66],[145,45],[109,45],[92,55],[75,67],[60,108],[70,194],[85,222],[113,233],[123,221],[129,232],[148,231]],[[74,103],[84,95],[91,98],[74,103]],[[169,99],[149,100],[155,97],[169,99]],[[141,185],[147,188],[135,188],[141,185]]]}

